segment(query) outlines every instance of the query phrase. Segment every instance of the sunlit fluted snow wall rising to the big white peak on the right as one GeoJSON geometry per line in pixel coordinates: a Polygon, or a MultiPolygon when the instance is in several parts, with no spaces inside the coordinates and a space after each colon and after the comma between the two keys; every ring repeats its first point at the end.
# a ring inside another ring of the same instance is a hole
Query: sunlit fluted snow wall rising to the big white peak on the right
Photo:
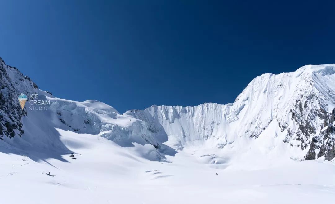
{"type": "Polygon", "coordinates": [[[124,115],[145,121],[154,138],[168,137],[177,146],[204,140],[224,148],[239,138],[261,137],[290,146],[292,156],[331,160],[335,157],[334,73],[332,64],[307,65],[295,72],[258,76],[227,105],[151,106],[124,115]]]}

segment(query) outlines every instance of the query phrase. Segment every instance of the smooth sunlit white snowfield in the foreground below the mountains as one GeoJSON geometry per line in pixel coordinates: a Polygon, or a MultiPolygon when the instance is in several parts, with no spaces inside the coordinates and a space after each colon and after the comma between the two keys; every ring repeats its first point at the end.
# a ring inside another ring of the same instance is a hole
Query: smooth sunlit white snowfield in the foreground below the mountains
{"type": "Polygon", "coordinates": [[[64,152],[65,161],[36,162],[29,158],[35,152],[0,152],[1,203],[314,204],[335,198],[335,164],[322,159],[269,160],[259,149],[252,160],[229,160],[222,149],[192,143],[166,156],[170,162],[159,162],[136,155],[136,143],[124,148],[103,137],[57,131],[76,159],[64,152]]]}

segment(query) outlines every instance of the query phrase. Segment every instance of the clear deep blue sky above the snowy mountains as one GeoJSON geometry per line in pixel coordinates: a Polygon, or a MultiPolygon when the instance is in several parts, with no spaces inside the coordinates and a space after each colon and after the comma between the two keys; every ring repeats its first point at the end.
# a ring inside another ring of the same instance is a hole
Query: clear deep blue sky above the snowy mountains
{"type": "Polygon", "coordinates": [[[257,75],[335,63],[331,1],[8,0],[0,8],[8,65],[56,97],[122,113],[226,104],[257,75]]]}

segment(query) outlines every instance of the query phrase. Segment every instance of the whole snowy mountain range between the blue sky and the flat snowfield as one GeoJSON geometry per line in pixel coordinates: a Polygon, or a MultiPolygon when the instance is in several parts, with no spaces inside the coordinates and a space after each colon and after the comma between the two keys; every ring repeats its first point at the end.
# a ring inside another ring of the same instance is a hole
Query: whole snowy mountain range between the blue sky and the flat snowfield
{"type": "Polygon", "coordinates": [[[174,148],[194,142],[235,152],[256,143],[267,149],[284,148],[298,159],[335,157],[334,64],[263,74],[227,105],[153,105],[123,115],[99,101],[56,98],[2,59],[0,82],[0,139],[16,147],[64,151],[58,133],[51,131],[61,128],[105,137],[122,147],[148,144],[145,157],[150,160],[163,161],[164,155],[175,153],[174,148]],[[50,100],[48,110],[28,110],[27,106],[21,110],[17,100],[21,92],[50,100]]]}

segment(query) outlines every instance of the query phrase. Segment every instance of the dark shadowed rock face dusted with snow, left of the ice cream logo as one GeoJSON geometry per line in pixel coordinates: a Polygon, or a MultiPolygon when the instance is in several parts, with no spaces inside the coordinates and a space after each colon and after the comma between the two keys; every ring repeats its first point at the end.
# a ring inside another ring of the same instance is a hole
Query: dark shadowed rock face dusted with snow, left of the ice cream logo
{"type": "Polygon", "coordinates": [[[16,68],[10,67],[0,58],[0,139],[21,136],[23,128],[21,118],[27,114],[17,99],[23,92],[35,92],[37,85],[29,77],[23,76],[16,68]]]}

